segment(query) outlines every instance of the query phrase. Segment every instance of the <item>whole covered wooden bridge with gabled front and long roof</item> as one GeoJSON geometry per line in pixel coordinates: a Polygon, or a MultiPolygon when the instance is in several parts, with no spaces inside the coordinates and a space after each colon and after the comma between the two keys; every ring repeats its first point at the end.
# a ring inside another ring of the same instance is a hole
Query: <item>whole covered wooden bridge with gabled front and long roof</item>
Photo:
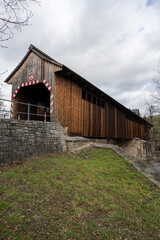
{"type": "MultiPolygon", "coordinates": [[[[68,127],[70,135],[89,138],[149,139],[151,125],[65,65],[30,45],[28,52],[5,80],[12,84],[12,100],[50,108],[48,121],[68,127]]],[[[26,112],[12,103],[12,117],[26,112]],[[16,113],[14,113],[16,112],[16,113]]],[[[23,108],[23,109],[22,109],[23,108]]],[[[25,115],[21,117],[26,119],[25,115]]]]}

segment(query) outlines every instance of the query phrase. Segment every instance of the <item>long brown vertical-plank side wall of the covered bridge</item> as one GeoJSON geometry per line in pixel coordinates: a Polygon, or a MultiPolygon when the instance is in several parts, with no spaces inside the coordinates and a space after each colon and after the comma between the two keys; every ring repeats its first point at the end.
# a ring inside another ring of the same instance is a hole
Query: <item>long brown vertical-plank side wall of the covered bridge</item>
{"type": "Polygon", "coordinates": [[[118,107],[81,88],[62,73],[55,75],[54,91],[55,121],[68,126],[70,134],[96,138],[146,138],[143,122],[127,116],[118,107]],[[86,92],[86,99],[82,98],[82,91],[86,92]],[[88,94],[91,99],[87,98],[88,94]],[[93,97],[96,97],[96,104],[93,97]]]}

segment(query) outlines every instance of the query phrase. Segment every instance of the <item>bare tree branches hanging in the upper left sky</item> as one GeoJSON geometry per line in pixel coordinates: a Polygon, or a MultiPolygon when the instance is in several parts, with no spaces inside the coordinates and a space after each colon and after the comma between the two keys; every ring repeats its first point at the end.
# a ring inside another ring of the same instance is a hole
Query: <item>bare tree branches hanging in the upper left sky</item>
{"type": "Polygon", "coordinates": [[[29,20],[33,16],[29,5],[39,3],[38,0],[0,0],[0,46],[13,37],[15,31],[21,31],[22,27],[29,26],[29,20]]]}

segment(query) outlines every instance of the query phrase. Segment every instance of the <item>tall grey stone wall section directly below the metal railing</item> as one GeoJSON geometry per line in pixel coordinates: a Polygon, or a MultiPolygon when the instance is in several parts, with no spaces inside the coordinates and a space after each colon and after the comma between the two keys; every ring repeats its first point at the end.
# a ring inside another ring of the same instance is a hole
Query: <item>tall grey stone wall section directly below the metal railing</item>
{"type": "Polygon", "coordinates": [[[0,165],[64,151],[60,123],[0,119],[0,165]]]}

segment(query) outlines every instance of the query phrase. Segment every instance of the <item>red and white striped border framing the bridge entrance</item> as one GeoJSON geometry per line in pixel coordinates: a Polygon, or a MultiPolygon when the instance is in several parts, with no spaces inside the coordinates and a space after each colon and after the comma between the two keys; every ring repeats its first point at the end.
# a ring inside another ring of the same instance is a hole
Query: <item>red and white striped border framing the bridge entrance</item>
{"type": "MultiPolygon", "coordinates": [[[[19,92],[19,89],[21,87],[27,87],[27,86],[30,86],[30,85],[38,84],[40,82],[41,82],[40,80],[35,80],[35,81],[29,81],[29,82],[22,83],[21,86],[17,87],[17,89],[15,90],[15,92],[12,96],[12,99],[15,99],[15,97],[17,96],[17,93],[19,92]]],[[[50,92],[50,116],[52,118],[53,117],[53,90],[46,80],[43,80],[42,83],[46,86],[46,88],[50,92]]],[[[10,116],[10,118],[12,118],[12,117],[13,117],[13,102],[11,103],[11,116],[10,116]]]]}

